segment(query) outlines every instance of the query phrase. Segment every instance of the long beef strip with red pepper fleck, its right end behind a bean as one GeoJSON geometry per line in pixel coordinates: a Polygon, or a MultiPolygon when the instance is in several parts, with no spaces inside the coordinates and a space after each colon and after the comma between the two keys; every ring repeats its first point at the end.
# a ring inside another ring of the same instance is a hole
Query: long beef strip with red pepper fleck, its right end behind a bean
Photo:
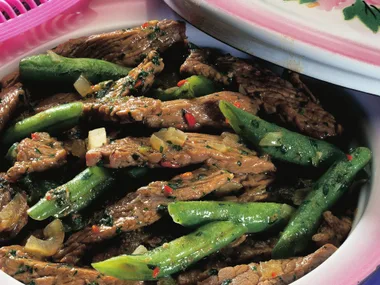
{"type": "Polygon", "coordinates": [[[255,114],[257,106],[247,96],[223,91],[195,99],[179,99],[161,102],[148,97],[104,97],[85,103],[88,116],[100,117],[119,123],[142,122],[151,128],[175,127],[181,130],[196,130],[202,127],[227,127],[219,110],[219,101],[224,100],[255,114]],[[189,122],[192,116],[194,122],[189,122]]]}

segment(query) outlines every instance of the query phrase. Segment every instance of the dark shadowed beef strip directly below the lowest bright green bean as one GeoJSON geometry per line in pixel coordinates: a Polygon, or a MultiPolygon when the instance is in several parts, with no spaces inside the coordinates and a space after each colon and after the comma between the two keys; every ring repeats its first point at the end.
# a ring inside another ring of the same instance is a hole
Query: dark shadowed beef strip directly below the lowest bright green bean
{"type": "Polygon", "coordinates": [[[237,246],[230,245],[210,255],[204,262],[201,262],[200,268],[180,273],[176,281],[180,285],[198,284],[210,276],[217,275],[218,271],[224,267],[269,260],[276,242],[276,238],[257,240],[249,236],[237,246]]]}

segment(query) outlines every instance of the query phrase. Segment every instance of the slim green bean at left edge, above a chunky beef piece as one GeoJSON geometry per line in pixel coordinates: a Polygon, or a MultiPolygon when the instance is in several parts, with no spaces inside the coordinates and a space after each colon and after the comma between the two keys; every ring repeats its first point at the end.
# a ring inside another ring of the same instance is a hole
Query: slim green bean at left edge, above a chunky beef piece
{"type": "Polygon", "coordinates": [[[26,118],[5,131],[2,142],[11,144],[31,133],[48,131],[58,132],[78,124],[83,113],[83,104],[74,102],[50,108],[34,116],[26,118]]]}

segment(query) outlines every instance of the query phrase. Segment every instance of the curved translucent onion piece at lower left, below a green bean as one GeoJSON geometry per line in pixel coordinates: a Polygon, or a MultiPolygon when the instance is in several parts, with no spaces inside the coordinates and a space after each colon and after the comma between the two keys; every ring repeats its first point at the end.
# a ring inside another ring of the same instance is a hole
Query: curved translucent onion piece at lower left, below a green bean
{"type": "Polygon", "coordinates": [[[40,256],[53,256],[56,254],[65,239],[61,220],[56,219],[48,224],[44,229],[44,236],[46,240],[30,236],[26,241],[25,251],[40,256]]]}

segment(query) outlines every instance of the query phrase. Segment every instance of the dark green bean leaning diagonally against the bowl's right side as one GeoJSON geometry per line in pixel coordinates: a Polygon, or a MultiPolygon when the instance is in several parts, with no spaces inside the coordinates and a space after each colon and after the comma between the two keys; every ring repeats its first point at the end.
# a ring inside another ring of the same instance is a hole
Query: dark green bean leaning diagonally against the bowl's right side
{"type": "Polygon", "coordinates": [[[317,231],[324,211],[331,208],[348,189],[356,174],[371,160],[371,151],[355,149],[350,159],[342,158],[314,184],[290,223],[280,236],[273,258],[287,258],[301,253],[317,231]],[[352,156],[352,159],[351,159],[352,156]]]}

